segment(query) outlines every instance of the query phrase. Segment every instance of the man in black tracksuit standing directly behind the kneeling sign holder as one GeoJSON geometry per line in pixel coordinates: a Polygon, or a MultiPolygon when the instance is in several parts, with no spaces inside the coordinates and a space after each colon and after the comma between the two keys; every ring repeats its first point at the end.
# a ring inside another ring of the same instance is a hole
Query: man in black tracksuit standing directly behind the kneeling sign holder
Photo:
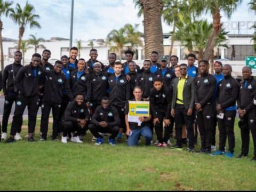
{"type": "Polygon", "coordinates": [[[150,73],[151,61],[145,60],[143,62],[144,71],[140,73],[136,79],[136,86],[140,86],[143,91],[143,98],[149,98],[150,90],[153,87],[153,79],[155,74],[150,73]]]}

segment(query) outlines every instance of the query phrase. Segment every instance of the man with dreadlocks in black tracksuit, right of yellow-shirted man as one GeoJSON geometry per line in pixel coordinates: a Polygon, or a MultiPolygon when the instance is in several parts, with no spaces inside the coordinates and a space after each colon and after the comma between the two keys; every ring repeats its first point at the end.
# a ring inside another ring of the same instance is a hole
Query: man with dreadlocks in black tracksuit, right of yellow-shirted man
{"type": "Polygon", "coordinates": [[[196,123],[201,137],[201,153],[210,154],[216,80],[209,74],[207,60],[199,61],[198,69],[201,76],[196,78],[195,84],[196,123]]]}

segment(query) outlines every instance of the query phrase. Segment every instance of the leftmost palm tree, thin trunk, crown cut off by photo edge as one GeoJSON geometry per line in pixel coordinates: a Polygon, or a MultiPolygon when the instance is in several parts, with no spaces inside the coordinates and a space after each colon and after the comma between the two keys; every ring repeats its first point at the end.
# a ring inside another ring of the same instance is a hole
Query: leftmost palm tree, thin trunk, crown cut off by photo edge
{"type": "Polygon", "coordinates": [[[0,0],[0,49],[1,49],[1,70],[4,70],[4,50],[3,50],[3,39],[2,39],[2,30],[3,30],[3,21],[2,16],[5,17],[9,16],[11,9],[12,2],[4,2],[0,0]]]}

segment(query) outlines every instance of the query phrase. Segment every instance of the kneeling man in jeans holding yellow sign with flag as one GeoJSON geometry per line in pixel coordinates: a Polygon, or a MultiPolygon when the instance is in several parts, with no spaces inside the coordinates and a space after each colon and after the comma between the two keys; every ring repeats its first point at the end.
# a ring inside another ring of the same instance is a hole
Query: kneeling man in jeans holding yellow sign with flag
{"type": "MultiPolygon", "coordinates": [[[[135,86],[133,90],[133,101],[137,101],[138,103],[143,101],[142,94],[141,87],[135,86]]],[[[149,105],[140,106],[140,104],[138,104],[138,106],[135,105],[134,107],[133,105],[134,102],[130,104],[127,102],[125,106],[126,135],[129,136],[127,144],[128,146],[137,146],[141,135],[146,139],[146,146],[149,146],[152,139],[152,132],[149,128],[149,121],[151,119],[151,115],[149,115],[149,105]]]]}

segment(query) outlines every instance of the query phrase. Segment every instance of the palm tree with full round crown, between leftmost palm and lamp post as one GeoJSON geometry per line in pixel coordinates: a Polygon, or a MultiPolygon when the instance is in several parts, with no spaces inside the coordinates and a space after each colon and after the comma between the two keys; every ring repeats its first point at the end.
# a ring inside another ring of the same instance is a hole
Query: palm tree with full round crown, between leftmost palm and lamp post
{"type": "Polygon", "coordinates": [[[30,28],[41,28],[40,24],[36,21],[36,19],[39,18],[39,15],[34,14],[34,12],[35,7],[27,2],[23,9],[21,8],[20,4],[17,3],[15,10],[10,14],[12,20],[19,25],[18,50],[21,49],[21,39],[27,25],[29,25],[30,28]]]}

